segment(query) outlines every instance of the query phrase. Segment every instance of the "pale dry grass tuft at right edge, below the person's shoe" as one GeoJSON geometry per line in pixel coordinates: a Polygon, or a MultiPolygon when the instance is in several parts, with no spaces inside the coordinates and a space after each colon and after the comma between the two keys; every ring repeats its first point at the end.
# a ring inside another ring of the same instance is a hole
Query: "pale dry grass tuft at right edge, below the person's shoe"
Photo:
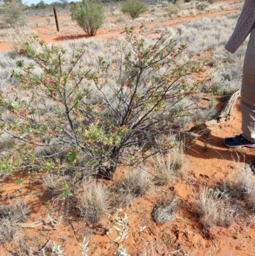
{"type": "Polygon", "coordinates": [[[237,167],[223,185],[232,197],[244,200],[245,205],[255,211],[255,179],[249,165],[243,168],[237,167]]]}

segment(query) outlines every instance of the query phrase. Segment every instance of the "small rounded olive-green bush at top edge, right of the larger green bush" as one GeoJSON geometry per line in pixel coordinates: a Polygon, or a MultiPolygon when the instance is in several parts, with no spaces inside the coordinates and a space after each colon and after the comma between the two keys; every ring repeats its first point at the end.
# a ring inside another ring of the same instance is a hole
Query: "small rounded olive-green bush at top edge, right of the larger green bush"
{"type": "Polygon", "coordinates": [[[136,19],[140,14],[147,11],[147,6],[139,0],[126,0],[121,6],[121,11],[128,14],[132,19],[136,19]]]}

